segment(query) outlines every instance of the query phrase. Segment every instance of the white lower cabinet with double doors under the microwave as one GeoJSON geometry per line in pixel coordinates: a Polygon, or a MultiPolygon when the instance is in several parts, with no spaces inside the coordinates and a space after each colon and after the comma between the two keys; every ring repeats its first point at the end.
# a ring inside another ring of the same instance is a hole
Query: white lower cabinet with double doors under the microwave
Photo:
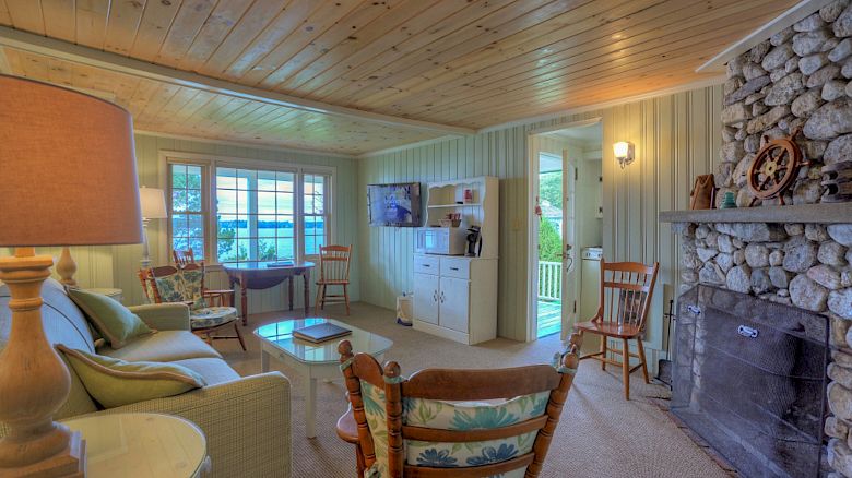
{"type": "Polygon", "coordinates": [[[463,344],[497,337],[497,260],[414,256],[414,328],[463,344]]]}

